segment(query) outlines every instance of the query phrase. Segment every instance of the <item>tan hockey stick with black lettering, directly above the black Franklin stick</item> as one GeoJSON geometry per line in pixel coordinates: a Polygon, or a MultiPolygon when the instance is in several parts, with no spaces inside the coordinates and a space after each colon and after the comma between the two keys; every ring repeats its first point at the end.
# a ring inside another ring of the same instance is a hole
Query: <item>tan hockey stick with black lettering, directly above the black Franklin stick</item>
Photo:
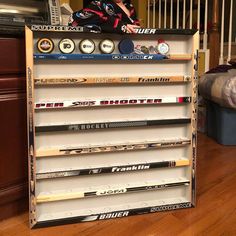
{"type": "Polygon", "coordinates": [[[73,148],[55,148],[36,150],[36,157],[53,157],[53,156],[73,156],[92,153],[122,152],[134,150],[149,150],[154,148],[181,147],[191,144],[190,139],[176,139],[164,141],[150,141],[143,143],[116,144],[105,146],[88,146],[73,148]]]}

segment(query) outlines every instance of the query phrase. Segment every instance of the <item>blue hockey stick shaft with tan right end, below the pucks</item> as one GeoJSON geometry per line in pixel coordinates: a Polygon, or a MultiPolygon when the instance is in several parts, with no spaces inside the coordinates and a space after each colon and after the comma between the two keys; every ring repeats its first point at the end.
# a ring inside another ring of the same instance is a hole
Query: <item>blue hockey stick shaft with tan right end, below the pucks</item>
{"type": "Polygon", "coordinates": [[[34,54],[36,60],[190,61],[191,54],[34,54]]]}

